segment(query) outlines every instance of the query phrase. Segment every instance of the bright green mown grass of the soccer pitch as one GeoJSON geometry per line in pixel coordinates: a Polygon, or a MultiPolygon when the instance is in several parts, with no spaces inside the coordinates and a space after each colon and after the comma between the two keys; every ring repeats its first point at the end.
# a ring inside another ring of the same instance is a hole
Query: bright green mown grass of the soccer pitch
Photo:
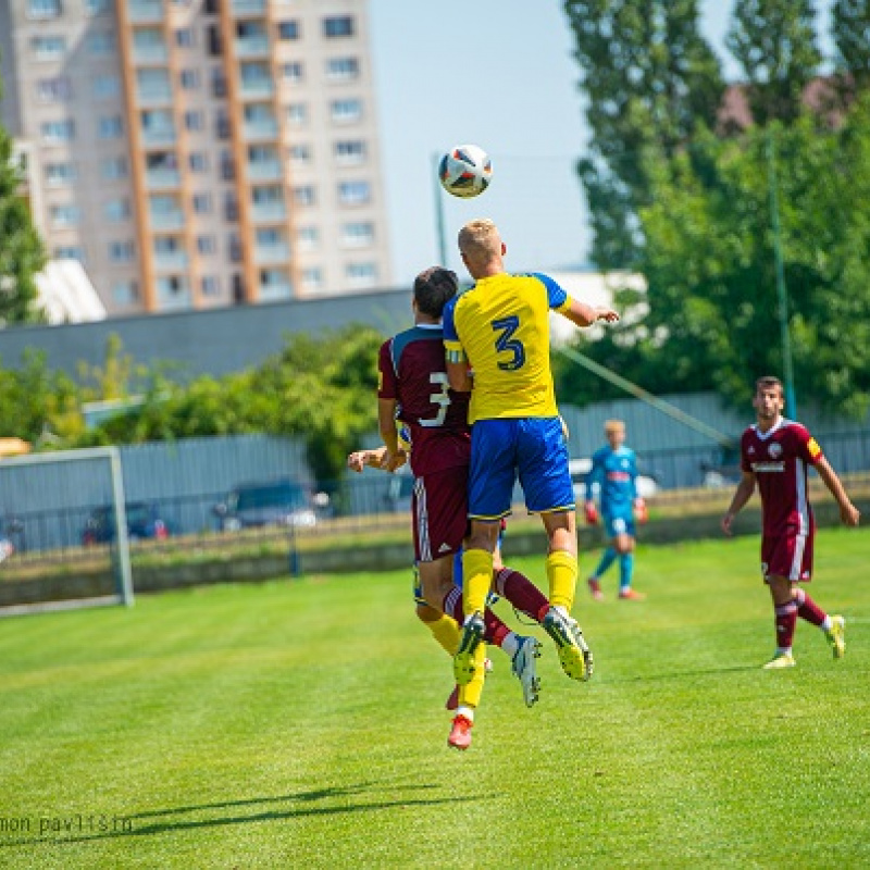
{"type": "Polygon", "coordinates": [[[580,589],[593,681],[535,629],[526,710],[494,650],[465,754],[409,572],[2,621],[0,867],[868,867],[870,532],[817,542],[846,658],[800,623],[785,672],[757,548],[642,548],[643,602],[580,589]]]}

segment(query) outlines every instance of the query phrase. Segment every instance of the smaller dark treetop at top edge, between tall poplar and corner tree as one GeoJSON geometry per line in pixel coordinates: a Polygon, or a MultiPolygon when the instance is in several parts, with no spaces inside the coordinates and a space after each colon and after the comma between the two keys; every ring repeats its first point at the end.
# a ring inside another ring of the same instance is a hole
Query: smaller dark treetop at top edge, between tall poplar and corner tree
{"type": "Polygon", "coordinates": [[[812,0],[736,0],[725,46],[743,70],[754,121],[795,121],[822,62],[812,0]]]}

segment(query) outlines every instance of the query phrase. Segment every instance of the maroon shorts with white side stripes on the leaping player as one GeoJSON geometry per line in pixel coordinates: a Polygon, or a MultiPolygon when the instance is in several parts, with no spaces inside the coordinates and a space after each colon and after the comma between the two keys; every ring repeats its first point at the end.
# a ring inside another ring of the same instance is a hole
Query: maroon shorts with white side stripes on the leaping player
{"type": "Polygon", "coordinates": [[[468,529],[468,465],[424,474],[411,498],[414,558],[432,562],[458,552],[468,529]]]}

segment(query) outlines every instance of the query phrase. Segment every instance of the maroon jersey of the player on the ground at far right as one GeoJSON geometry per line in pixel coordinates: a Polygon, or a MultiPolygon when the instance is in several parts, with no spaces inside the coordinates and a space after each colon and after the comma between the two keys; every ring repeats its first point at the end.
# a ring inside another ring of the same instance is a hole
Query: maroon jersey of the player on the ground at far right
{"type": "Polygon", "coordinates": [[[755,472],[758,481],[763,535],[812,534],[807,467],[821,458],[822,450],[807,428],[791,420],[780,419],[768,432],[754,425],[743,433],[741,465],[755,472]]]}

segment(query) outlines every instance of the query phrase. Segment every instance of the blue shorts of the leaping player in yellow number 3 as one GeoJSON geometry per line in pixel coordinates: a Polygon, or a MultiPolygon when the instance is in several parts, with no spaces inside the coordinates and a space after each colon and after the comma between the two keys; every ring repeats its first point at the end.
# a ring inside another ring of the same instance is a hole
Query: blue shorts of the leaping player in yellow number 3
{"type": "Polygon", "coordinates": [[[510,513],[519,476],[532,513],[574,510],[568,445],[558,417],[478,420],[471,430],[469,517],[510,513]]]}

